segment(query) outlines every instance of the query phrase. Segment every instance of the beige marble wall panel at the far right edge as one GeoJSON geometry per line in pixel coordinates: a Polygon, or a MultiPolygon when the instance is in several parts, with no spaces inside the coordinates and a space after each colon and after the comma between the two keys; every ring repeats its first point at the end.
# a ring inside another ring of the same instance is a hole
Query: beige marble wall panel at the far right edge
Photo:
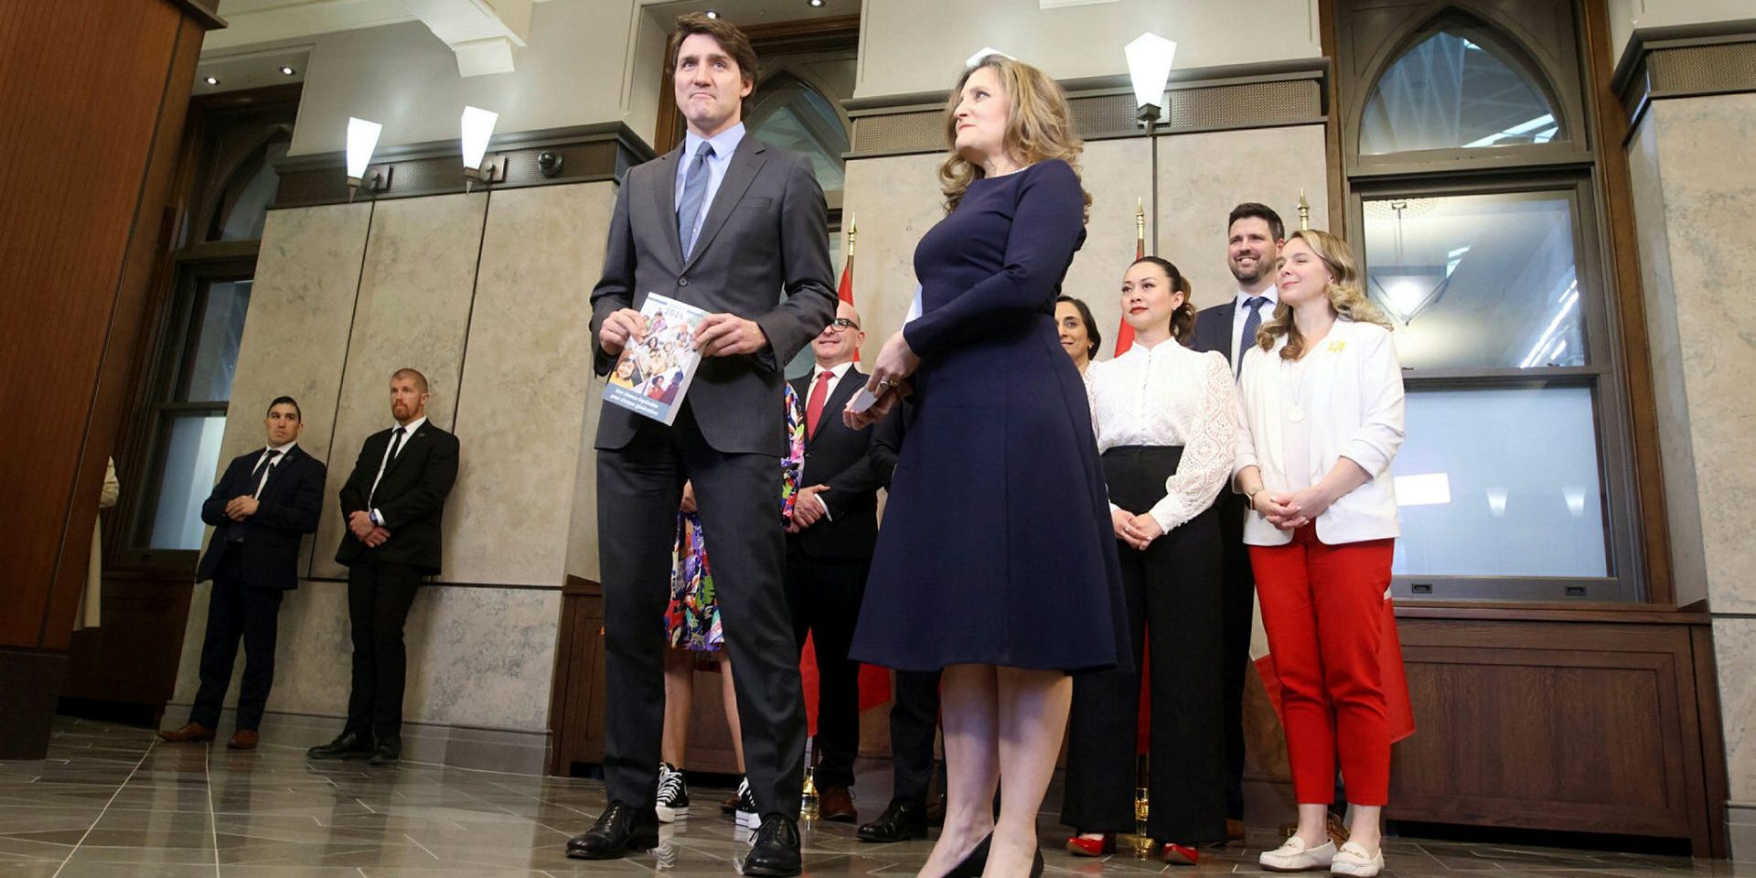
{"type": "Polygon", "coordinates": [[[1651,114],[1709,601],[1716,613],[1756,613],[1756,539],[1726,515],[1756,495],[1756,299],[1744,281],[1756,165],[1728,160],[1756,140],[1756,95],[1659,100],[1651,114]]]}

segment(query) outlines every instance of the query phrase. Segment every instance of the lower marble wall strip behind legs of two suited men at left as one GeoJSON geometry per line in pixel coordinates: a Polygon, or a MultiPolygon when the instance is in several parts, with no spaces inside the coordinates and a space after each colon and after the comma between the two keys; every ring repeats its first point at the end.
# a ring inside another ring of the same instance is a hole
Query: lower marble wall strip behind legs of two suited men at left
{"type": "MultiPolygon", "coordinates": [[[[190,620],[207,618],[211,587],[195,587],[190,620]]],[[[404,637],[409,655],[404,718],[483,729],[548,727],[560,592],[539,588],[423,587],[404,637]]],[[[183,643],[172,701],[190,704],[198,687],[200,627],[183,643]]],[[[353,650],[348,583],[302,581],[281,604],[274,690],[269,709],[346,716],[353,650]]],[[[237,702],[234,671],[227,706],[237,702]]],[[[181,720],[172,715],[169,722],[181,720]]],[[[335,722],[341,730],[341,720],[335,722]]]]}

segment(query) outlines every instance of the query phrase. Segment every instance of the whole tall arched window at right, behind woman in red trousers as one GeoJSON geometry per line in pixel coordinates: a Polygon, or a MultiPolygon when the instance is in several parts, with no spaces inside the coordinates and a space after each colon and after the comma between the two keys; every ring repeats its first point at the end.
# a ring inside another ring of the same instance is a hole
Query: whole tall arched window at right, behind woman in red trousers
{"type": "Polygon", "coordinates": [[[1577,4],[1342,16],[1347,239],[1407,388],[1398,597],[1638,601],[1577,4]]]}

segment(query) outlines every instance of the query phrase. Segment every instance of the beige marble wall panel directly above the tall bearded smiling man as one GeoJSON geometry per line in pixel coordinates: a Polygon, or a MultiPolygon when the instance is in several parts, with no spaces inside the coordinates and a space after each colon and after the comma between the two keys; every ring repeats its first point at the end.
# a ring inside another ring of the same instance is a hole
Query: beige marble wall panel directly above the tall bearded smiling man
{"type": "Polygon", "coordinates": [[[1322,125],[1159,137],[1159,255],[1194,284],[1196,307],[1217,306],[1238,291],[1226,269],[1231,209],[1263,202],[1291,235],[1303,188],[1312,227],[1324,228],[1328,179],[1322,125]]]}

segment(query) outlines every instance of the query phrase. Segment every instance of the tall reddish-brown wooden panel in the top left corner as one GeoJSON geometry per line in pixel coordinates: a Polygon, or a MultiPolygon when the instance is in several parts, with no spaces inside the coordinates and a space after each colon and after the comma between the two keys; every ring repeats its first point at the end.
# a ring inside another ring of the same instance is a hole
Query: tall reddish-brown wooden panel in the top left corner
{"type": "Polygon", "coordinates": [[[98,392],[105,348],[139,321],[123,269],[151,253],[130,249],[142,223],[156,237],[169,177],[149,167],[170,163],[200,33],[167,0],[0,7],[0,646],[67,644],[121,404],[98,392]]]}

